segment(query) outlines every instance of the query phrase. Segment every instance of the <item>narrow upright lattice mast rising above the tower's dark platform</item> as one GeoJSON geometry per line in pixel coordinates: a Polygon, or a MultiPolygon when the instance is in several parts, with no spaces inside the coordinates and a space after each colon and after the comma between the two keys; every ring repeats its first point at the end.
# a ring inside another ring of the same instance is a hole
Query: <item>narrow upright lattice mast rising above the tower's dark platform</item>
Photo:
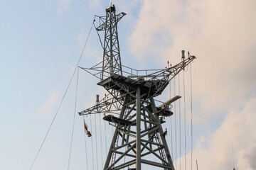
{"type": "Polygon", "coordinates": [[[125,15],[126,13],[116,15],[115,6],[110,6],[106,8],[106,16],[99,17],[103,23],[97,27],[97,31],[105,30],[101,79],[110,77],[112,74],[122,75],[117,23],[125,15]]]}

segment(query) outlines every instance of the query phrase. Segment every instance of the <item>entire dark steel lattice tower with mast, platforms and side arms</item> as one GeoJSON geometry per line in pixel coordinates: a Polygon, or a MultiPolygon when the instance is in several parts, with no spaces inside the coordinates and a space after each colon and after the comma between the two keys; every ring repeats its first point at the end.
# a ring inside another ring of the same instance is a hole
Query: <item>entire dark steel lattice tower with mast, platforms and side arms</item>
{"type": "Polygon", "coordinates": [[[116,15],[115,12],[115,7],[110,6],[106,16],[96,16],[100,21],[96,30],[105,30],[102,67],[99,67],[100,63],[90,68],[81,67],[100,79],[98,85],[109,94],[79,114],[103,113],[103,119],[115,126],[104,170],[127,166],[141,170],[142,164],[174,170],[166,132],[161,124],[165,123],[165,117],[173,114],[169,105],[181,96],[175,96],[159,107],[156,107],[154,97],[159,96],[169,81],[196,57],[188,53],[185,59],[183,51],[182,62],[166,69],[136,70],[122,66],[117,23],[126,13],[116,15]]]}

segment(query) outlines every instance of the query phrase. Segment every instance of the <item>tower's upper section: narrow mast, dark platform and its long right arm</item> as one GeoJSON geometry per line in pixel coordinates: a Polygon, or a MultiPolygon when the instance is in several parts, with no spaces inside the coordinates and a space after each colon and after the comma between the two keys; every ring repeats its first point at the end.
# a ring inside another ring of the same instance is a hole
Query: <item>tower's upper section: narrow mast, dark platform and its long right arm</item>
{"type": "MultiPolygon", "coordinates": [[[[117,33],[117,23],[126,13],[116,15],[116,7],[106,8],[105,16],[95,16],[95,21],[99,21],[97,33],[105,32],[104,41],[100,42],[103,48],[103,60],[91,68],[82,68],[100,79],[98,85],[103,86],[107,91],[115,91],[116,97],[130,94],[129,100],[134,100],[137,88],[140,88],[142,98],[145,100],[161,95],[169,81],[191,63],[196,57],[190,55],[185,57],[182,51],[181,62],[165,69],[145,69],[137,70],[126,67],[121,63],[119,39],[117,33]],[[100,67],[100,64],[102,67],[100,67]],[[89,71],[90,70],[90,71],[89,71]]],[[[116,98],[119,101],[119,98],[116,98]]],[[[122,103],[122,102],[121,102],[122,103]]]]}

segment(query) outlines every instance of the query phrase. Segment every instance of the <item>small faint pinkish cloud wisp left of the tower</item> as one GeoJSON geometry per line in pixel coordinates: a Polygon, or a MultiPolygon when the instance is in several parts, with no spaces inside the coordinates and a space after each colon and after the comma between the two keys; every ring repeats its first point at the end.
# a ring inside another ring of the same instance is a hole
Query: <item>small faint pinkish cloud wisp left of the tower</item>
{"type": "Polygon", "coordinates": [[[58,101],[59,94],[60,93],[58,91],[52,91],[50,93],[50,96],[48,97],[47,101],[43,104],[43,106],[38,108],[38,112],[40,112],[40,113],[50,113],[53,106],[58,101]]]}

